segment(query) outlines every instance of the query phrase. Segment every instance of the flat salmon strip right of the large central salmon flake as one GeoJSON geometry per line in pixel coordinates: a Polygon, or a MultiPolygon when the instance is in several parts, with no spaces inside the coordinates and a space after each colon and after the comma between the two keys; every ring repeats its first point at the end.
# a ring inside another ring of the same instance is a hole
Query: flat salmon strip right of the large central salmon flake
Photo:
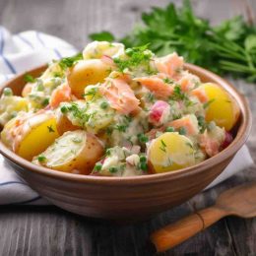
{"type": "Polygon", "coordinates": [[[156,96],[167,99],[173,93],[173,88],[167,85],[158,76],[136,78],[134,81],[140,82],[143,86],[153,92],[156,96]]]}

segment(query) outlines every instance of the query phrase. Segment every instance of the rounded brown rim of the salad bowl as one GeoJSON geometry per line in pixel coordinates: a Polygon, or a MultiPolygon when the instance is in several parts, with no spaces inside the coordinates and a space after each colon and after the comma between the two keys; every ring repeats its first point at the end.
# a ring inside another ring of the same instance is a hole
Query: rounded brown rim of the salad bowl
{"type": "MultiPolygon", "coordinates": [[[[34,68],[30,71],[24,72],[20,75],[17,75],[13,79],[9,80],[8,82],[1,85],[1,89],[8,87],[8,85],[12,84],[15,80],[20,79],[25,74],[30,72],[35,72],[36,70],[43,70],[46,65],[42,65],[40,67],[34,68]]],[[[249,103],[247,99],[242,96],[237,89],[234,88],[229,82],[221,78],[217,74],[201,68],[199,66],[186,63],[185,68],[189,69],[191,73],[193,72],[197,74],[202,74],[205,77],[209,78],[209,81],[215,81],[215,83],[219,84],[225,91],[227,91],[228,95],[232,96],[235,101],[238,103],[240,109],[240,125],[237,130],[237,134],[232,141],[232,143],[220,152],[218,155],[204,160],[200,163],[197,163],[193,166],[178,169],[175,171],[163,172],[163,173],[155,173],[155,174],[146,174],[146,175],[138,175],[138,176],[127,176],[127,177],[113,177],[113,176],[95,176],[95,175],[81,175],[75,173],[67,173],[62,172],[50,168],[46,168],[43,166],[35,165],[29,160],[25,160],[14,152],[9,150],[0,140],[0,154],[3,155],[4,158],[7,160],[12,161],[18,167],[23,167],[29,169],[30,171],[41,174],[44,176],[48,176],[51,178],[55,178],[58,180],[64,181],[77,181],[82,183],[89,183],[89,184],[101,184],[101,185],[148,185],[149,183],[159,183],[161,181],[167,181],[176,178],[182,178],[183,176],[191,176],[195,173],[206,171],[208,168],[218,165],[219,163],[223,162],[224,160],[228,160],[232,157],[246,142],[250,129],[252,126],[252,114],[249,108],[249,103]]]]}

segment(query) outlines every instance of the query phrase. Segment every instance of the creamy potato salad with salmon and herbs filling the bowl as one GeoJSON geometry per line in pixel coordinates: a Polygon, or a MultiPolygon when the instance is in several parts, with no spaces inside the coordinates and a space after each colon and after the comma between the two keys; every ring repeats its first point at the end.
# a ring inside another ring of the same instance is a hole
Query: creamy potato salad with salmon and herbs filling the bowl
{"type": "Polygon", "coordinates": [[[239,109],[223,88],[202,83],[175,52],[94,41],[83,53],[26,74],[22,96],[0,98],[2,142],[47,168],[86,175],[175,171],[232,141],[239,109]]]}

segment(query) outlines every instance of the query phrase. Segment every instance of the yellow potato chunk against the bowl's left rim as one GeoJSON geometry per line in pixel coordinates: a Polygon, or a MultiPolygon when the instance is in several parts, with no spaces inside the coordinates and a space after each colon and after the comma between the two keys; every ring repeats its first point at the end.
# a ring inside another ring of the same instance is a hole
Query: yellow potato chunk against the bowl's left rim
{"type": "Polygon", "coordinates": [[[1,133],[3,142],[11,141],[12,150],[26,160],[43,152],[59,137],[56,118],[51,112],[42,112],[11,120],[1,133]]]}

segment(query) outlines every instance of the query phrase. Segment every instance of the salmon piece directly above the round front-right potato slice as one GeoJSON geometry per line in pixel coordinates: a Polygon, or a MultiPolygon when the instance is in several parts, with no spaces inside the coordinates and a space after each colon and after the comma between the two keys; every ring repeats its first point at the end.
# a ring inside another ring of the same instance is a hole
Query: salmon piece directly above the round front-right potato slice
{"type": "Polygon", "coordinates": [[[186,135],[196,135],[199,133],[198,122],[194,115],[186,115],[180,119],[176,119],[168,123],[167,126],[172,126],[175,129],[184,127],[186,135]]]}

